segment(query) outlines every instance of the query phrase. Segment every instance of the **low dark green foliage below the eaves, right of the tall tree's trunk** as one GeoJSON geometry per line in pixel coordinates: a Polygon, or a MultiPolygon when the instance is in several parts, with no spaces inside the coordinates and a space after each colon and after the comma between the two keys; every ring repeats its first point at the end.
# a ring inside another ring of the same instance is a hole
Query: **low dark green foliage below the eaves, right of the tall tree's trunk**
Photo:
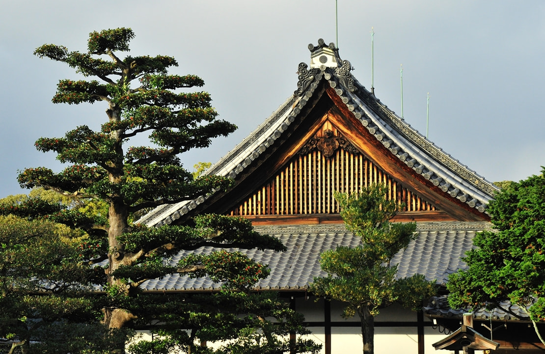
{"type": "MultiPolygon", "coordinates": [[[[289,333],[308,334],[304,319],[290,310],[276,293],[231,292],[195,294],[183,297],[148,297],[138,304],[148,312],[153,308],[160,314],[161,325],[155,326],[151,343],[129,346],[133,354],[164,352],[178,347],[180,352],[192,353],[317,353],[321,345],[299,338],[295,343],[289,333]],[[206,311],[203,311],[206,309],[206,311]],[[186,331],[179,331],[183,324],[186,331]],[[216,349],[201,347],[198,341],[214,343],[216,349]]],[[[141,318],[140,321],[145,321],[141,318]]]]}

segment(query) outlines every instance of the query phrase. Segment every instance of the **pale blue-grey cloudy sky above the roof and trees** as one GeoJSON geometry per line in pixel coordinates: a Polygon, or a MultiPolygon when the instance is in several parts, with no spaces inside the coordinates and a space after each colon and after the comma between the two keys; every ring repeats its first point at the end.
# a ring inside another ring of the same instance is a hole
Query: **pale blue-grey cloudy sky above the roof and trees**
{"type": "Polygon", "coordinates": [[[53,104],[58,80],[80,76],[34,49],[84,52],[90,32],[117,27],[136,34],[131,56],[172,56],[171,74],[202,77],[220,118],[239,127],[181,155],[190,170],[218,161],[293,94],[319,38],[336,42],[381,102],[487,180],[519,181],[545,165],[542,0],[20,0],[0,12],[0,198],[28,192],[17,170],[62,170],[35,150],[38,138],[106,120],[105,103],[53,104]]]}

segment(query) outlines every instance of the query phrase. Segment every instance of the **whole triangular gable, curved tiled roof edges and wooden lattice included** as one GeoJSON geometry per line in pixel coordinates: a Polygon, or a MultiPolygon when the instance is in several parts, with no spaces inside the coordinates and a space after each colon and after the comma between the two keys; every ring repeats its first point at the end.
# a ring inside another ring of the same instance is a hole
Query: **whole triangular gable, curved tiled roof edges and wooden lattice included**
{"type": "Polygon", "coordinates": [[[371,182],[385,183],[407,205],[399,221],[489,220],[497,187],[383,105],[352,77],[336,48],[329,54],[335,60],[326,60],[331,65],[320,64],[323,41],[309,48],[311,69],[299,65],[294,95],[208,170],[230,176],[234,186],[158,207],[139,222],[160,226],[202,212],[255,224],[340,222],[332,192],[371,182]]]}

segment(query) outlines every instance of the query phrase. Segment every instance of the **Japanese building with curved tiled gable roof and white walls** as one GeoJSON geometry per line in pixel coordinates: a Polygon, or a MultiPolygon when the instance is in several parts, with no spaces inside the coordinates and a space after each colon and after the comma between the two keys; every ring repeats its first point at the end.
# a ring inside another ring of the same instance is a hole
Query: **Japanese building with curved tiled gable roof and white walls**
{"type": "MultiPolygon", "coordinates": [[[[321,252],[360,242],[344,227],[333,192],[385,184],[388,197],[405,204],[393,221],[417,223],[416,240],[393,259],[398,276],[422,273],[444,285],[464,266],[461,257],[475,234],[491,227],[486,208],[498,188],[380,102],[352,75],[335,44],[320,39],[308,49],[310,65],[299,64],[294,93],[208,170],[233,178],[234,186],[158,207],[139,222],[160,226],[214,212],[248,218],[259,232],[277,236],[286,252],[246,251],[271,268],[255,290],[280,292],[305,314],[323,353],[344,353],[361,350],[359,319],[343,320],[342,304],[316,301],[308,292],[313,277],[325,275],[321,252]]],[[[178,275],[143,286],[161,292],[219,289],[209,279],[178,275]]],[[[375,325],[377,354],[433,353],[432,343],[446,337],[439,331],[445,327],[423,312],[396,306],[383,309],[375,325]]]]}

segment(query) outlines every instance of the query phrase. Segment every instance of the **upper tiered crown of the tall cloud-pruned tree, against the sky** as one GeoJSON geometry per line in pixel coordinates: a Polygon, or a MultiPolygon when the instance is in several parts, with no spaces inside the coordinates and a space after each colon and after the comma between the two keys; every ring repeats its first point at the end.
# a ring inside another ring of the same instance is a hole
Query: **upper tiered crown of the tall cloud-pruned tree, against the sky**
{"type": "Polygon", "coordinates": [[[21,186],[81,193],[107,202],[120,196],[132,212],[229,186],[219,176],[193,178],[176,155],[207,147],[211,138],[228,135],[236,127],[216,118],[208,93],[175,91],[202,86],[203,81],[195,75],[168,75],[167,69],[178,65],[173,58],[118,58],[115,52],[129,51],[133,38],[130,28],[107,29],[90,33],[88,53],[54,45],[35,51],[101,81],[60,80],[53,102],[104,101],[110,108],[101,131],[82,125],[63,138],[38,139],[38,150],[56,152],[59,161],[73,165],[58,174],[44,167],[25,169],[19,175],[21,186]],[[95,58],[102,54],[110,60],[95,58]],[[137,86],[131,88],[132,83],[137,86]],[[123,155],[122,144],[144,132],[159,148],[130,148],[123,155]]]}

